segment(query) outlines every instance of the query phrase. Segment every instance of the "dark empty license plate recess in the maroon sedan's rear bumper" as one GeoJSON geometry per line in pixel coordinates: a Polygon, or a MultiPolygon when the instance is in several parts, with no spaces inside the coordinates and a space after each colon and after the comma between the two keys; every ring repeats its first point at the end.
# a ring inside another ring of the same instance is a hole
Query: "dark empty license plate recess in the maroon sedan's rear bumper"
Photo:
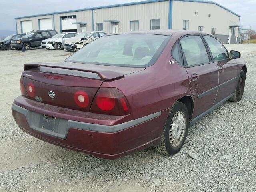
{"type": "Polygon", "coordinates": [[[42,115],[40,118],[39,126],[42,129],[54,131],[58,133],[58,119],[53,116],[42,115]]]}

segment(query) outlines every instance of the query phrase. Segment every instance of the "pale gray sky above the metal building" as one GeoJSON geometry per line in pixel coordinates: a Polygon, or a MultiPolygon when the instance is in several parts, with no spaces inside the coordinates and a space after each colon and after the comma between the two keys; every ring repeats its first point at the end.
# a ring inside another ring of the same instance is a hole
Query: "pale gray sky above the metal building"
{"type": "MultiPolygon", "coordinates": [[[[0,0],[0,30],[16,30],[15,17],[141,0],[0,0]]],[[[241,15],[240,25],[256,30],[256,0],[216,0],[241,15]]]]}

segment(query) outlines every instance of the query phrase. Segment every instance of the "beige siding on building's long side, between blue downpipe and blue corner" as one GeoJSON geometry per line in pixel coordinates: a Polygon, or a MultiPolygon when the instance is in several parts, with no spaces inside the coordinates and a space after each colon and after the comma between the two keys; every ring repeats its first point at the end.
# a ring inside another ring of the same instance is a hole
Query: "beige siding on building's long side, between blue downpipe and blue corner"
{"type": "Polygon", "coordinates": [[[103,31],[112,33],[112,23],[103,20],[119,20],[118,32],[130,31],[130,21],[139,21],[139,30],[150,29],[150,19],[161,19],[160,29],[168,29],[169,2],[154,2],[94,10],[94,29],[96,23],[103,23],[103,31]]]}

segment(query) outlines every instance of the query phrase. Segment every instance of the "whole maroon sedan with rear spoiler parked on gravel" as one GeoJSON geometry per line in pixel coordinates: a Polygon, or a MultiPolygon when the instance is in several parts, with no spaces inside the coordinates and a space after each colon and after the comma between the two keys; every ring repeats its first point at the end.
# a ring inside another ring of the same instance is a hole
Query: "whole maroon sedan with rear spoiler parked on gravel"
{"type": "Polygon", "coordinates": [[[114,159],[155,146],[172,155],[189,127],[244,92],[246,64],[210,34],[110,34],[64,62],[24,65],[12,114],[46,142],[114,159]]]}

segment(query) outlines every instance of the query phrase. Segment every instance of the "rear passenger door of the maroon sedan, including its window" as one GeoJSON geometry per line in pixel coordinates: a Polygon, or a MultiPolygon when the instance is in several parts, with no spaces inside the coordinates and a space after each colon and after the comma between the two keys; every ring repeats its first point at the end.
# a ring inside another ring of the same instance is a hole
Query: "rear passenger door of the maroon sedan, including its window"
{"type": "Polygon", "coordinates": [[[201,35],[185,36],[180,39],[180,45],[195,100],[194,118],[213,106],[218,89],[218,68],[211,61],[201,35]]]}

